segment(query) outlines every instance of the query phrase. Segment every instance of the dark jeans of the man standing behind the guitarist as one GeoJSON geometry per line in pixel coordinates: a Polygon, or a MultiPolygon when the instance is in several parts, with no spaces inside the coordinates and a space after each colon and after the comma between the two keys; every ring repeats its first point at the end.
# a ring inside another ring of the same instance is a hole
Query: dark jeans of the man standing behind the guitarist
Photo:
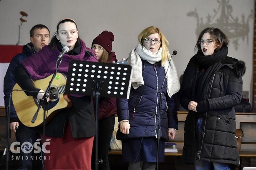
{"type": "MultiPolygon", "coordinates": [[[[19,122],[19,127],[16,130],[15,133],[16,140],[20,142],[20,146],[24,142],[29,142],[32,145],[34,145],[34,142],[40,138],[40,134],[37,133],[35,128],[30,128],[19,122]]],[[[41,141],[42,142],[42,141],[41,141]]],[[[23,146],[23,148],[28,147],[28,146],[23,146]]],[[[31,170],[32,169],[32,160],[31,156],[33,157],[33,160],[39,161],[39,169],[41,169],[41,160],[39,160],[39,157],[41,154],[33,154],[33,150],[30,153],[24,153],[20,148],[20,153],[19,153],[19,165],[18,165],[18,170],[31,170]],[[27,157],[26,157],[27,156],[27,157]],[[37,157],[37,159],[36,159],[37,157]],[[27,158],[27,159],[26,159],[27,158]]]]}

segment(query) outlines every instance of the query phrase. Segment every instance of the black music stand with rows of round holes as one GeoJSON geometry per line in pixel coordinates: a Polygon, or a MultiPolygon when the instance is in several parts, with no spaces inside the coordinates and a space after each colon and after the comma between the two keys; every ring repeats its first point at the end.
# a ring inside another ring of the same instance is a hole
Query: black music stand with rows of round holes
{"type": "Polygon", "coordinates": [[[132,68],[130,65],[72,60],[65,93],[96,96],[95,169],[98,170],[99,96],[129,98],[132,68]]]}

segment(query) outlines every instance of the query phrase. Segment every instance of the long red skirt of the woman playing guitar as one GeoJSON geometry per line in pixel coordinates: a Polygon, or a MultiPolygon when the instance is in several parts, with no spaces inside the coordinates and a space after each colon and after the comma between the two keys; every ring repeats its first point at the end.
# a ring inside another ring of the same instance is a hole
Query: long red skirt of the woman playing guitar
{"type": "MultiPolygon", "coordinates": [[[[67,120],[64,137],[45,136],[45,170],[79,169],[91,170],[91,153],[94,136],[89,138],[73,138],[69,121],[67,120]]],[[[42,137],[42,135],[41,135],[42,137]]]]}

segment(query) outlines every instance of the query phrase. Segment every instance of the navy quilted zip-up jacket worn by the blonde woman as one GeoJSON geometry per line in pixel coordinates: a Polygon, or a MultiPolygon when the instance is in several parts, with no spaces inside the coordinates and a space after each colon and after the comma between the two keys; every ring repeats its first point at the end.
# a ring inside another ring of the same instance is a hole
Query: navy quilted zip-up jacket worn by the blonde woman
{"type": "MultiPolygon", "coordinates": [[[[118,121],[128,119],[131,125],[129,134],[117,131],[117,139],[138,137],[157,137],[159,122],[160,92],[165,78],[165,69],[161,61],[150,64],[142,60],[142,76],[144,85],[134,89],[131,87],[129,99],[117,99],[118,121]]],[[[166,81],[162,88],[161,106],[161,138],[168,140],[168,128],[178,129],[176,100],[169,97],[166,81]]]]}

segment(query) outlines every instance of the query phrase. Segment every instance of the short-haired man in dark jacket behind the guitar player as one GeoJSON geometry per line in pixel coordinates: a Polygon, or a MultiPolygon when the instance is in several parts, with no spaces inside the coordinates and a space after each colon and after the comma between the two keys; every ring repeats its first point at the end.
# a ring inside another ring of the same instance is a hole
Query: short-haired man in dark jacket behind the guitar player
{"type": "MultiPolygon", "coordinates": [[[[24,142],[30,142],[33,145],[34,142],[38,138],[40,138],[40,134],[36,131],[36,128],[25,126],[24,124],[22,124],[22,122],[19,121],[13,103],[12,101],[10,101],[10,94],[12,92],[13,86],[16,84],[13,72],[15,67],[17,67],[23,60],[25,60],[29,56],[32,56],[34,53],[42,50],[44,46],[47,46],[49,44],[50,37],[49,29],[43,24],[35,25],[34,27],[31,28],[29,33],[31,42],[23,46],[22,53],[19,53],[12,58],[9,67],[6,71],[3,84],[4,106],[7,118],[10,107],[9,128],[15,132],[16,140],[20,142],[20,146],[24,142]]],[[[30,153],[24,153],[22,150],[20,150],[18,169],[32,169],[32,154],[33,150],[30,153]],[[28,159],[26,159],[26,156],[28,159]]]]}

